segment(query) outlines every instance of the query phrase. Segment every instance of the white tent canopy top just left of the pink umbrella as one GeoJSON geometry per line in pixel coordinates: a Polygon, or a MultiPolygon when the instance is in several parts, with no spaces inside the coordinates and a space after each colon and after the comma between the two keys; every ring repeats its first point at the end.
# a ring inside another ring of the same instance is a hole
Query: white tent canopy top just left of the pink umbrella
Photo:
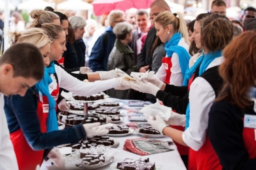
{"type": "Polygon", "coordinates": [[[93,5],[83,2],[82,0],[67,0],[57,5],[57,9],[92,10],[93,5]]]}

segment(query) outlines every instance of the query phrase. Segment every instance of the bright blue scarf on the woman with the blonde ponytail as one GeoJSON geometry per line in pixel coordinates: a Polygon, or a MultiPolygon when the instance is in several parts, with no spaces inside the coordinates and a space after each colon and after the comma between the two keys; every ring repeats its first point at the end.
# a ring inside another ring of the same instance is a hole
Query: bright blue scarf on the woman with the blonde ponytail
{"type": "Polygon", "coordinates": [[[182,36],[180,32],[173,34],[170,41],[165,44],[165,51],[168,57],[171,57],[173,53],[177,53],[179,57],[179,65],[181,67],[182,76],[185,76],[187,67],[189,65],[190,55],[184,47],[178,46],[182,36]]]}

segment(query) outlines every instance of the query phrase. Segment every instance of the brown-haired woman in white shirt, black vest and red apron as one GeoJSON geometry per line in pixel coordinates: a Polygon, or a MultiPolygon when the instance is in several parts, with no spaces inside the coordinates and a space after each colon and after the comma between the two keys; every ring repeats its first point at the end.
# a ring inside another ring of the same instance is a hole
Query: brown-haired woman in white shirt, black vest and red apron
{"type": "MultiPolygon", "coordinates": [[[[189,158],[190,168],[198,170],[220,169],[218,157],[211,147],[206,131],[210,107],[222,84],[222,79],[218,75],[218,65],[222,62],[221,52],[232,39],[233,26],[226,16],[219,14],[211,14],[203,20],[201,25],[201,42],[204,55],[200,59],[198,58],[194,65],[195,67],[200,65],[198,69],[200,77],[194,79],[190,86],[188,128],[182,132],[168,126],[169,124],[185,126],[185,123],[187,123],[188,120],[184,115],[176,113],[173,113],[166,122],[159,116],[155,116],[155,120],[148,119],[148,121],[153,128],[171,137],[174,141],[191,148],[190,158],[194,158],[194,160],[189,158]],[[191,151],[194,151],[194,153],[192,154],[191,151]]],[[[131,87],[134,90],[146,91],[146,93],[150,92],[151,94],[156,94],[160,90],[149,82],[131,83],[131,87]]],[[[185,89],[183,90],[185,91],[185,89]]],[[[180,91],[173,92],[177,94],[180,91]]]]}

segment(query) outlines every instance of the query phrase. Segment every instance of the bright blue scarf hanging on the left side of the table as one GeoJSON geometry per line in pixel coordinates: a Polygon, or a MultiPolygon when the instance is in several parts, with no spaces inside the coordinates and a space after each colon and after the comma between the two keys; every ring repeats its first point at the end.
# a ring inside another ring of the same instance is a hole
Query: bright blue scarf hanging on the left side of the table
{"type": "Polygon", "coordinates": [[[54,62],[51,61],[48,68],[45,67],[43,79],[40,80],[40,82],[38,82],[35,85],[37,90],[40,91],[44,96],[47,96],[47,98],[48,98],[49,114],[48,114],[48,119],[47,119],[47,123],[46,123],[47,132],[58,130],[58,122],[57,122],[57,117],[56,117],[56,112],[55,112],[56,102],[55,102],[54,98],[51,96],[51,94],[49,92],[49,87],[48,87],[49,84],[53,81],[50,77],[50,74],[53,74],[54,72],[55,72],[54,62]]]}

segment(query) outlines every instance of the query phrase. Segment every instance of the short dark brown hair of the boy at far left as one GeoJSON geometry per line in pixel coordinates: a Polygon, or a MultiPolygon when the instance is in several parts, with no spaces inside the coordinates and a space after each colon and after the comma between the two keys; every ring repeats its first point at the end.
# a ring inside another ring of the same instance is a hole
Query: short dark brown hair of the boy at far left
{"type": "Polygon", "coordinates": [[[13,66],[13,77],[21,76],[38,81],[43,78],[43,56],[33,44],[26,42],[14,44],[2,55],[0,65],[3,64],[13,66]]]}

